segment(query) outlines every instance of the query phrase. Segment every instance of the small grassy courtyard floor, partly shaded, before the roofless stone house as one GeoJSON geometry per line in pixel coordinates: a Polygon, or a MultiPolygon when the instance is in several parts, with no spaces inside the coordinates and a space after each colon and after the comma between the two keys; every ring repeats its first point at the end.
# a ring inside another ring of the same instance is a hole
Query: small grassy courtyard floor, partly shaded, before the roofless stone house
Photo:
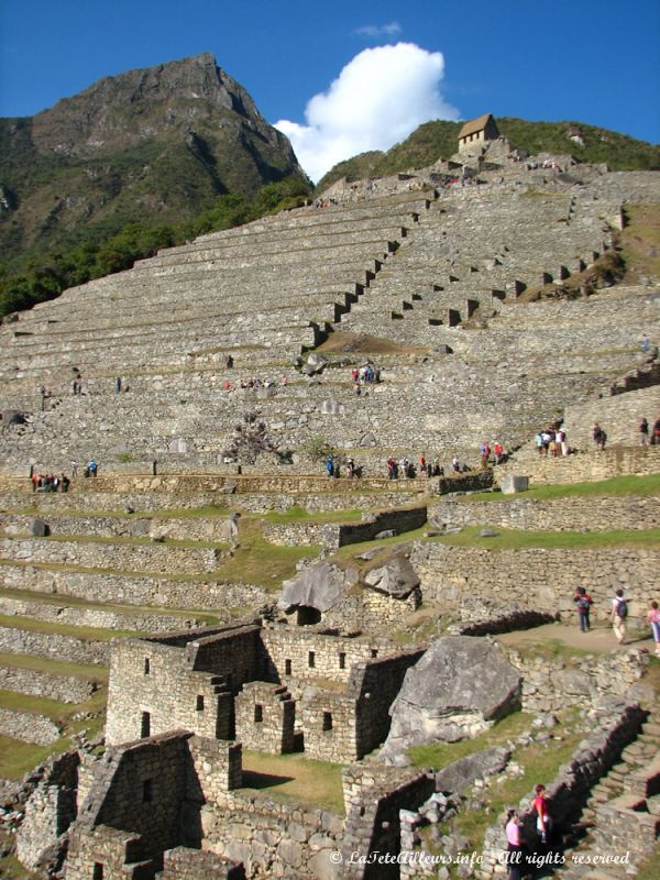
{"type": "Polygon", "coordinates": [[[267,791],[276,800],[294,801],[343,815],[341,767],[294,755],[266,755],[243,749],[243,789],[267,791]]]}

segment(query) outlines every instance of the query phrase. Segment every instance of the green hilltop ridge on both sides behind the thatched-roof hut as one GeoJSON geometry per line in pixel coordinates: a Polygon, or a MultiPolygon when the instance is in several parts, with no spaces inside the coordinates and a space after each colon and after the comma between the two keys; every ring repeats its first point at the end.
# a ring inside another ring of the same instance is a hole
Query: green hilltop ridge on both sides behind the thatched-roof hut
{"type": "MultiPolygon", "coordinates": [[[[581,122],[528,122],[512,117],[497,117],[496,122],[501,134],[530,155],[570,153],[580,162],[605,162],[613,170],[660,168],[660,147],[607,129],[581,122]],[[570,140],[578,133],[584,146],[570,140]]],[[[317,189],[322,191],[342,177],[384,177],[410,168],[424,168],[440,157],[449,158],[458,150],[462,124],[441,120],[425,122],[386,153],[373,151],[340,162],[319,180],[317,189]]]]}

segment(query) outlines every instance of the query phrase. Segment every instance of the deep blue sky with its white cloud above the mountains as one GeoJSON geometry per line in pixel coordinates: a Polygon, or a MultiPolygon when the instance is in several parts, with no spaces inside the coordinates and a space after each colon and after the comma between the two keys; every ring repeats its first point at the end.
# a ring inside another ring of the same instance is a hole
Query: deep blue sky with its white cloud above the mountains
{"type": "Polygon", "coordinates": [[[385,148],[425,113],[570,119],[660,142],[657,0],[0,0],[0,116],[200,52],[326,161],[385,148]],[[361,55],[395,44],[418,51],[361,55]],[[343,113],[369,136],[341,130],[343,113]]]}

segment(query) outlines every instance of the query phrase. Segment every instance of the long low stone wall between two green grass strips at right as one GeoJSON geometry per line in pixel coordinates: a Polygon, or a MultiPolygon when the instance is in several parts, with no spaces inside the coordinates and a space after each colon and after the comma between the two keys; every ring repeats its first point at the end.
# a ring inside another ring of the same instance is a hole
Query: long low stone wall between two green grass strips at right
{"type": "Polygon", "coordinates": [[[660,497],[598,496],[538,501],[525,495],[502,501],[444,501],[429,508],[433,524],[491,526],[534,531],[609,531],[660,528],[660,497]]]}

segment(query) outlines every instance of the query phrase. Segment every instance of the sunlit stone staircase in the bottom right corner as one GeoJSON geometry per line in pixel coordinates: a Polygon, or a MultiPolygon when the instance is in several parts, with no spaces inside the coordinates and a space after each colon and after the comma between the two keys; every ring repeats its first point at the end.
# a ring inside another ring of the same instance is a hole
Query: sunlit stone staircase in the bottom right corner
{"type": "Polygon", "coordinates": [[[609,773],[592,789],[578,823],[585,836],[565,850],[561,880],[620,880],[651,851],[660,834],[660,706],[609,773]],[[622,858],[624,859],[622,861],[622,858]]]}

